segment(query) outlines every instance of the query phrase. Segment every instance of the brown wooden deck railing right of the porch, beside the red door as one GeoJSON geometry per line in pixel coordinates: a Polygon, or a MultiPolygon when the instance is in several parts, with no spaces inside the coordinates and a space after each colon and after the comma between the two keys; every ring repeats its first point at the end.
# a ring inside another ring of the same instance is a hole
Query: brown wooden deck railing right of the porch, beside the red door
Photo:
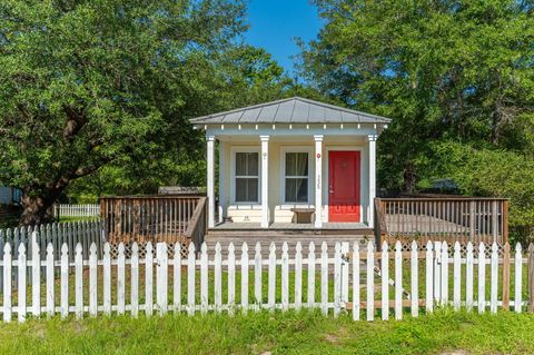
{"type": "Polygon", "coordinates": [[[434,239],[504,244],[508,240],[505,198],[377,198],[375,233],[379,240],[434,239]]]}

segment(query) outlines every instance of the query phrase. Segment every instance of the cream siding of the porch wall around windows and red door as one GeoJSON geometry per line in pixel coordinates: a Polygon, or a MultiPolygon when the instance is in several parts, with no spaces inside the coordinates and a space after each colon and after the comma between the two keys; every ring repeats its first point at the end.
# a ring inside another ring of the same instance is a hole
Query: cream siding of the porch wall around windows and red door
{"type": "MultiPolygon", "coordinates": [[[[222,137],[221,137],[222,138],[222,137]]],[[[368,164],[368,144],[365,140],[366,136],[357,136],[357,137],[328,137],[325,135],[323,141],[323,220],[328,221],[328,151],[329,150],[360,150],[360,203],[362,203],[362,221],[367,223],[368,216],[368,208],[369,208],[369,164],[368,164]]],[[[291,207],[295,205],[287,205],[284,204],[283,198],[283,154],[284,149],[291,149],[291,148],[305,148],[310,151],[310,165],[308,167],[310,171],[309,183],[308,186],[315,186],[315,141],[314,137],[305,137],[305,138],[280,138],[276,136],[270,136],[269,140],[269,161],[268,161],[268,169],[269,169],[269,220],[276,223],[289,223],[293,218],[293,213],[290,211],[291,207]]],[[[237,205],[233,204],[233,196],[235,191],[233,190],[233,175],[231,171],[233,164],[231,160],[234,159],[233,155],[239,148],[250,149],[256,148],[259,150],[260,141],[259,137],[243,139],[240,141],[233,141],[233,140],[225,140],[224,145],[224,165],[222,168],[225,170],[225,181],[222,183],[224,188],[224,196],[225,200],[219,201],[222,203],[224,206],[228,206],[226,210],[226,216],[231,217],[236,223],[260,223],[261,221],[261,208],[260,204],[257,205],[237,205]]],[[[220,188],[220,186],[219,186],[220,188]]],[[[315,189],[308,189],[308,205],[298,205],[305,207],[315,207],[315,189]]]]}

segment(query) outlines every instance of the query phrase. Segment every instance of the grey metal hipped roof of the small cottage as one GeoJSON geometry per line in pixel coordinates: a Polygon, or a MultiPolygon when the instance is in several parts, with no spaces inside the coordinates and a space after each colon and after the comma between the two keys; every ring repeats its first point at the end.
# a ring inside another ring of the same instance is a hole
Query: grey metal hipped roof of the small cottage
{"type": "Polygon", "coordinates": [[[389,118],[293,97],[192,118],[194,125],[221,124],[388,124],[389,118]]]}

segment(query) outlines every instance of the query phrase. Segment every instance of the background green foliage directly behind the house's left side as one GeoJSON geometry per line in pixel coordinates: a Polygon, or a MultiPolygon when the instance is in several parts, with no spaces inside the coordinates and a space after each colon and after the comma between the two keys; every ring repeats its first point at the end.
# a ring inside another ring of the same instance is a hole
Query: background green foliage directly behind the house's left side
{"type": "MultiPolygon", "coordinates": [[[[197,102],[197,109],[184,111],[182,117],[192,118],[293,93],[293,80],[263,49],[235,46],[219,53],[217,68],[222,75],[209,81],[212,88],[209,92],[214,96],[197,102]]],[[[156,194],[159,186],[205,186],[206,145],[201,135],[189,130],[186,130],[191,134],[189,142],[178,144],[174,137],[185,129],[182,125],[169,125],[166,141],[158,141],[149,155],[122,155],[105,168],[73,181],[66,195],[78,201],[95,201],[102,195],[156,194]]]]}

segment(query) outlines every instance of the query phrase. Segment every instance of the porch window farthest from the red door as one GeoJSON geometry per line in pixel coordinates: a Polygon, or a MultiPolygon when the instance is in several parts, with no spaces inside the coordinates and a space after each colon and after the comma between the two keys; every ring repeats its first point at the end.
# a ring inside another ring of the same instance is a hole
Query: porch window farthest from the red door
{"type": "Polygon", "coordinates": [[[236,152],[236,203],[258,203],[259,154],[236,152]]]}

